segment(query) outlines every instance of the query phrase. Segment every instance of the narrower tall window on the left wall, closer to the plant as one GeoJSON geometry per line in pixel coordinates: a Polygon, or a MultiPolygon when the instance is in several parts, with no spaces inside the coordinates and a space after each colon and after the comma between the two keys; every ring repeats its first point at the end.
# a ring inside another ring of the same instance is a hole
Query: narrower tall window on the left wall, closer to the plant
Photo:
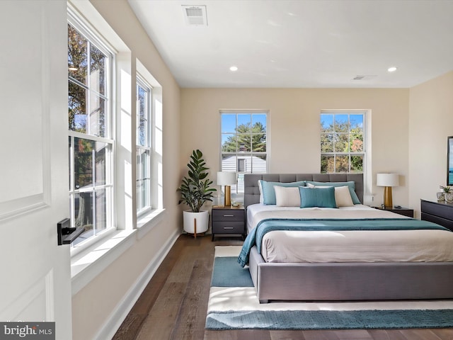
{"type": "Polygon", "coordinates": [[[137,78],[137,213],[151,208],[151,86],[137,78]]]}

